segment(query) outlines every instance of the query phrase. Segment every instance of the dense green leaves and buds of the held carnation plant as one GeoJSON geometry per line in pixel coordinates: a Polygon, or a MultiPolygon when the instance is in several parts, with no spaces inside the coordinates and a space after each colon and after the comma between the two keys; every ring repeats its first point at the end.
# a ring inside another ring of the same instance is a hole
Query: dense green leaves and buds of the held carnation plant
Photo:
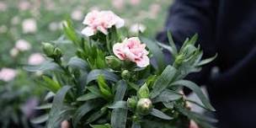
{"type": "Polygon", "coordinates": [[[212,120],[189,110],[187,99],[180,93],[183,87],[190,88],[200,98],[203,108],[215,111],[200,88],[184,80],[186,75],[199,72],[203,64],[215,58],[201,60],[200,46],[195,46],[197,35],[186,40],[179,50],[170,34],[170,45],[141,36],[149,56],[157,58],[157,66],[136,67],[131,61],[115,60],[112,62],[120,62],[121,67],[114,69],[108,56],[115,55],[109,48],[128,35],[113,26],[108,29],[109,35],[98,32],[84,37],[71,21],[63,27],[65,38],[58,40],[58,45],[43,46],[48,61],[40,67],[25,67],[28,71],[43,72],[40,83],[55,93],[51,106],[39,107],[50,111],[46,127],[58,127],[63,120],[68,120],[72,127],[188,127],[189,120],[195,120],[201,127],[213,127],[209,124],[212,120]],[[67,40],[76,49],[76,55],[69,58],[59,48],[67,40]],[[172,65],[166,65],[161,57],[162,48],[157,44],[173,53],[172,65]],[[45,64],[51,68],[44,68],[45,64]]]}

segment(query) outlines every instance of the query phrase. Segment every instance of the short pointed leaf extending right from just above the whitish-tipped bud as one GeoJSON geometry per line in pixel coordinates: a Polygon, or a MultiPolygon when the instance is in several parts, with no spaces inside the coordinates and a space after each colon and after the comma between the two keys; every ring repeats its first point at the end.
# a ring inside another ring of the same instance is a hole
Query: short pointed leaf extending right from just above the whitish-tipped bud
{"type": "Polygon", "coordinates": [[[181,99],[182,96],[183,95],[180,94],[180,93],[176,93],[176,92],[174,92],[172,90],[165,89],[155,99],[152,99],[152,103],[170,102],[170,101],[181,99]]]}

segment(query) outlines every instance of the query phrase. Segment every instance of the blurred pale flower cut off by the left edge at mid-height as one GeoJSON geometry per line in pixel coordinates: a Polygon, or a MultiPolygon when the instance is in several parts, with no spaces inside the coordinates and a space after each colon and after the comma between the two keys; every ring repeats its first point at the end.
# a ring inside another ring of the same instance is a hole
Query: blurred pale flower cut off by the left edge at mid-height
{"type": "Polygon", "coordinates": [[[3,67],[0,71],[0,80],[4,82],[9,82],[16,77],[17,72],[12,68],[3,67]]]}

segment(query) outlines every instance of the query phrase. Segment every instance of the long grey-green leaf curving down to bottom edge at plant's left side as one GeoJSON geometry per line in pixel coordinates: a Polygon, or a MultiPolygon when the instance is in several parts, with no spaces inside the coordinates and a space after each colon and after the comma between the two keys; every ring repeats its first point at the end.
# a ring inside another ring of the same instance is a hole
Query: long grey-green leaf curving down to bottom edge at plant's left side
{"type": "Polygon", "coordinates": [[[61,88],[53,99],[52,107],[49,115],[49,120],[46,123],[47,128],[59,127],[61,121],[67,120],[73,108],[64,105],[65,95],[71,86],[64,86],[61,88]]]}

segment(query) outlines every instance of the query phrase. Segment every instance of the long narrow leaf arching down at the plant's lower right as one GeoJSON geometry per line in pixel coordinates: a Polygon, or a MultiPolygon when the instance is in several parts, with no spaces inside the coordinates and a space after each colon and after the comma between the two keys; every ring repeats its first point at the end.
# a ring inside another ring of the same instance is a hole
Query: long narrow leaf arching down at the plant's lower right
{"type": "Polygon", "coordinates": [[[191,89],[198,96],[202,104],[205,105],[205,108],[211,111],[215,111],[215,109],[211,106],[209,100],[205,97],[205,94],[201,91],[200,87],[195,83],[192,83],[187,80],[179,80],[177,82],[172,83],[170,86],[184,86],[186,88],[191,89]]]}

